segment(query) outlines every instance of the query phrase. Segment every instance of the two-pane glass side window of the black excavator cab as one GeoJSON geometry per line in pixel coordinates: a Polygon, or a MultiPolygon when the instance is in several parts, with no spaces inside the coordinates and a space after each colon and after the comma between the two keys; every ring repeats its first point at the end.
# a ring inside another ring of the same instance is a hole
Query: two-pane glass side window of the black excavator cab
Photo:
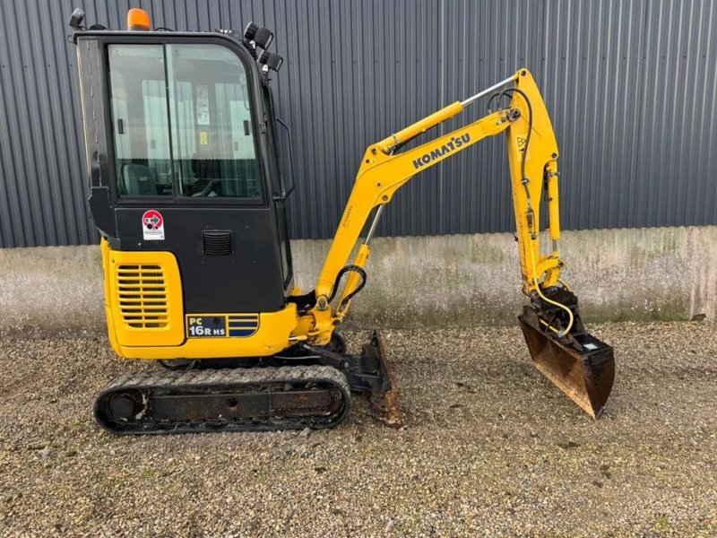
{"type": "Polygon", "coordinates": [[[120,197],[260,200],[246,71],[219,45],[109,45],[120,197]]]}

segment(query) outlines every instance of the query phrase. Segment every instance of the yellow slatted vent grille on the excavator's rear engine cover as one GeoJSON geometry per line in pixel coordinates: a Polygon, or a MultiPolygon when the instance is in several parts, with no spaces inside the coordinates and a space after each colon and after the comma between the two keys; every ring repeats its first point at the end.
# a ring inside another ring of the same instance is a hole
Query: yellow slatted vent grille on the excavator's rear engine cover
{"type": "Polygon", "coordinates": [[[117,265],[117,291],[125,325],[135,329],[168,325],[167,283],[161,265],[117,265]]]}

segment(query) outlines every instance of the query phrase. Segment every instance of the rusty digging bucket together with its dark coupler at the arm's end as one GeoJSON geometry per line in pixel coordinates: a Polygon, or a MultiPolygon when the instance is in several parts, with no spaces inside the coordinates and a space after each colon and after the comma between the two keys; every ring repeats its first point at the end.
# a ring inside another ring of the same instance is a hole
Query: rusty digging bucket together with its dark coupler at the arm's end
{"type": "Polygon", "coordinates": [[[523,307],[518,317],[533,363],[584,412],[598,419],[615,379],[612,347],[585,331],[571,291],[555,287],[543,293],[570,308],[574,322],[569,333],[558,335],[568,326],[566,311],[533,297],[532,305],[523,307]]]}

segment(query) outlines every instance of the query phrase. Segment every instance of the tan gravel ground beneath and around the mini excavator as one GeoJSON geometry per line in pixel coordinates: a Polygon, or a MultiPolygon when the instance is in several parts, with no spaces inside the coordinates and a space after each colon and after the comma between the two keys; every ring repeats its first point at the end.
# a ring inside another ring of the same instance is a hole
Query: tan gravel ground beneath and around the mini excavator
{"type": "MultiPolygon", "coordinates": [[[[93,394],[151,364],[0,343],[0,535],[717,536],[717,325],[614,324],[592,421],[516,327],[384,333],[403,430],[118,438],[93,394]]],[[[358,343],[366,334],[352,334],[358,343]]]]}

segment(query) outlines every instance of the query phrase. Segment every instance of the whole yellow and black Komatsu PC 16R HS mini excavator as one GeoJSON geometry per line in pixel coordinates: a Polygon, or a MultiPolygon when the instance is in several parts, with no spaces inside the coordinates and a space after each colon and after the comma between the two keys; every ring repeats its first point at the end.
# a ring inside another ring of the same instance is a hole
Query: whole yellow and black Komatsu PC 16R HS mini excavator
{"type": "Polygon", "coordinates": [[[270,88],[269,73],[282,61],[268,50],[272,32],[254,23],[241,34],[151,30],[137,9],[127,30],[85,28],[83,19],[75,10],[70,27],[109,341],[120,357],[167,367],[103,388],[95,402],[102,427],[118,434],[324,429],[346,416],[352,392],[366,393],[379,418],[400,424],[379,335],[350,354],[337,326],[366,283],[376,222],[395,192],[497,134],[507,143],[530,299],[519,319],[532,360],[600,416],[613,351],[586,332],[560,279],[557,143],[526,69],[370,145],[315,288],[302,292],[289,248],[293,185],[281,165],[288,152],[282,157],[277,142],[285,126],[270,88]],[[482,97],[495,111],[405,147],[482,97]]]}

